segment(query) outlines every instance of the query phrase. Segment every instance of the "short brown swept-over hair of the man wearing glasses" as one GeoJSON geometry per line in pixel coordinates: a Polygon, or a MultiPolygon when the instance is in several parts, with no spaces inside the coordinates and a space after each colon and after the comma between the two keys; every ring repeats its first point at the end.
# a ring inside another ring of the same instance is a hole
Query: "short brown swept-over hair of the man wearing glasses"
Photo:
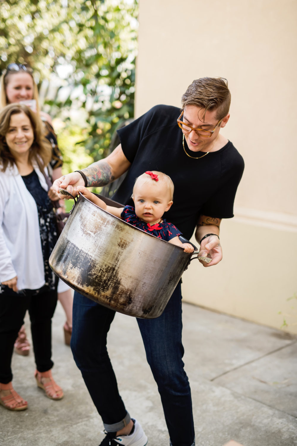
{"type": "Polygon", "coordinates": [[[200,78],[194,80],[182,96],[182,109],[187,105],[203,108],[203,120],[207,111],[216,110],[216,119],[228,115],[231,93],[225,78],[200,78]]]}

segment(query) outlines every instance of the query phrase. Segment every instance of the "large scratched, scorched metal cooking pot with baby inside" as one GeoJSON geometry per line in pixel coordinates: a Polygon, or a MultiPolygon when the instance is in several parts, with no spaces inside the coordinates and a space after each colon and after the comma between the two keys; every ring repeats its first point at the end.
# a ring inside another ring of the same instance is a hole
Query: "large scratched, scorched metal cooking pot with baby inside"
{"type": "Polygon", "coordinates": [[[49,264],[71,288],[93,301],[130,316],[156,318],[190,259],[182,248],[133,227],[80,195],[49,264]]]}

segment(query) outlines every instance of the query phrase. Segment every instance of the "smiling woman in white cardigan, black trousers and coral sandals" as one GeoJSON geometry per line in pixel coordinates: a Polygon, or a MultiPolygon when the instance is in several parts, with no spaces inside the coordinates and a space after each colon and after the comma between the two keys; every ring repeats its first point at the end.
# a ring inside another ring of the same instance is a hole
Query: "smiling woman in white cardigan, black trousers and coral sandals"
{"type": "Polygon", "coordinates": [[[26,310],[31,319],[37,386],[54,400],[63,397],[51,374],[51,319],[57,277],[49,256],[57,242],[56,219],[44,173],[51,158],[36,113],[23,104],[0,112],[0,404],[24,410],[12,387],[13,345],[26,310]]]}

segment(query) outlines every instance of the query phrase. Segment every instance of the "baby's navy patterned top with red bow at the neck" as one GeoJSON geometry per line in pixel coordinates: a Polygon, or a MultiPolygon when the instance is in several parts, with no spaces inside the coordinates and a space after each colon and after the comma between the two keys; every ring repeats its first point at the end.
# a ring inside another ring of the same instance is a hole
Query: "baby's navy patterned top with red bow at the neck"
{"type": "Polygon", "coordinates": [[[150,223],[146,223],[142,221],[136,214],[135,209],[132,206],[125,206],[122,214],[122,220],[130,223],[131,225],[142,229],[144,232],[148,232],[149,234],[155,235],[159,239],[166,240],[167,242],[174,237],[182,235],[182,233],[175,227],[172,223],[167,223],[164,219],[162,223],[156,223],[152,226],[150,223]]]}

